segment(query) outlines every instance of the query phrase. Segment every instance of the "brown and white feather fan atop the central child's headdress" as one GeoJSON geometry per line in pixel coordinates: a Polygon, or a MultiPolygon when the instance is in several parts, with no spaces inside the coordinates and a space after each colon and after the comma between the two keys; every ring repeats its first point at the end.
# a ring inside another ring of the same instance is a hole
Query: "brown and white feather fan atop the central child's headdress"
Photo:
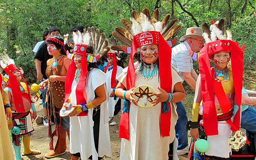
{"type": "MultiPolygon", "coordinates": [[[[154,10],[152,19],[148,8],[144,8],[140,14],[136,10],[133,10],[132,18],[130,18],[132,24],[127,19],[122,18],[121,22],[126,29],[123,27],[116,27],[115,31],[112,32],[112,35],[123,44],[127,45],[123,47],[131,47],[133,36],[139,33],[146,31],[158,31],[161,32],[165,40],[168,40],[182,27],[181,25],[175,26],[178,19],[174,19],[168,23],[170,14],[167,14],[162,22],[158,21],[158,16],[158,8],[154,10]],[[120,28],[122,28],[122,30],[120,30],[120,28]]],[[[119,50],[120,48],[121,46],[111,46],[111,49],[113,50],[119,50]]]]}

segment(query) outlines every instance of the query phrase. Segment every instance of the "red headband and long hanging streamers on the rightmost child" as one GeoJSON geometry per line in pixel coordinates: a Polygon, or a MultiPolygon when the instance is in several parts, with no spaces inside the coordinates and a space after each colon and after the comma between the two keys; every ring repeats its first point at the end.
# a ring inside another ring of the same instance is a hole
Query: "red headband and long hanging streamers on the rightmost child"
{"type": "MultiPolygon", "coordinates": [[[[213,87],[213,85],[215,85],[216,80],[213,80],[212,78],[213,73],[211,71],[210,61],[208,59],[211,57],[211,55],[220,51],[228,51],[230,52],[230,57],[232,57],[232,64],[233,64],[232,74],[234,77],[233,82],[234,82],[234,88],[236,93],[236,99],[239,107],[237,114],[234,116],[233,128],[236,128],[236,129],[240,128],[240,105],[241,105],[241,96],[242,96],[241,92],[242,92],[242,86],[243,86],[242,84],[243,50],[242,48],[239,47],[237,42],[234,42],[232,40],[217,40],[217,41],[206,44],[200,50],[200,54],[198,58],[199,70],[200,70],[200,76],[201,76],[201,89],[202,89],[202,100],[203,100],[202,105],[204,106],[204,112],[203,112],[204,129],[205,129],[206,135],[218,135],[218,121],[217,121],[217,113],[216,113],[215,98],[214,98],[215,86],[213,87]]],[[[215,92],[217,93],[216,95],[221,94],[219,92],[221,91],[219,91],[219,89],[216,89],[216,92],[215,92]]],[[[223,97],[221,98],[223,99],[223,97]]],[[[220,98],[218,98],[218,100],[219,99],[220,98]]],[[[227,103],[227,102],[223,102],[223,100],[219,100],[219,102],[220,102],[220,105],[222,106],[226,105],[227,103]]],[[[227,108],[223,107],[223,110],[226,112],[228,108],[230,109],[230,107],[227,107],[227,108]]]]}

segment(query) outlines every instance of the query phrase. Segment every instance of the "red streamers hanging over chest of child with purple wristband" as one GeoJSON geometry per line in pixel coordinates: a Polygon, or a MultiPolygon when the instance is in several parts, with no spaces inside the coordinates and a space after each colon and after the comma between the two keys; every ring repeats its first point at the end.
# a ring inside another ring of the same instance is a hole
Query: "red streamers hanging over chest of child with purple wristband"
{"type": "MultiPolygon", "coordinates": [[[[86,47],[85,47],[86,50],[86,47]]],[[[87,56],[86,55],[82,55],[81,58],[81,73],[80,73],[80,77],[79,77],[79,81],[77,84],[77,88],[76,88],[76,98],[77,98],[77,104],[82,104],[82,103],[86,103],[86,94],[84,94],[84,88],[86,87],[86,78],[87,78],[87,56]]],[[[67,102],[70,93],[71,93],[71,87],[72,87],[72,83],[74,80],[74,76],[76,73],[76,63],[74,62],[74,56],[70,62],[70,65],[68,67],[68,71],[67,71],[67,77],[66,77],[66,82],[65,82],[65,90],[66,90],[66,95],[65,95],[65,102],[67,102]]],[[[79,113],[77,116],[87,116],[87,113],[85,112],[81,112],[79,113]]]]}

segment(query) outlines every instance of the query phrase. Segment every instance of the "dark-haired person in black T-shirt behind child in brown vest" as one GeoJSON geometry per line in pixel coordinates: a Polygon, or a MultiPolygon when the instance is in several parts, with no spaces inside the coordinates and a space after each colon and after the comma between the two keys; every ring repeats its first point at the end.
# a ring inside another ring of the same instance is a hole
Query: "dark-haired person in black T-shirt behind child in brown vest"
{"type": "MultiPolygon", "coordinates": [[[[49,28],[49,34],[51,35],[60,35],[60,29],[57,26],[52,26],[49,28]]],[[[65,45],[65,50],[69,51],[70,53],[70,48],[66,44],[65,45]]],[[[66,55],[66,54],[65,54],[66,55]]],[[[47,68],[47,60],[51,59],[53,56],[49,55],[47,51],[47,45],[46,42],[43,42],[40,47],[38,48],[34,58],[36,60],[36,71],[37,71],[37,79],[40,80],[40,82],[44,81],[47,79],[47,76],[45,74],[46,68],[47,68]]],[[[43,107],[44,107],[44,119],[43,123],[44,126],[48,127],[48,120],[47,120],[47,115],[46,115],[46,104],[45,104],[45,98],[46,98],[46,92],[47,92],[48,86],[45,86],[44,91],[42,92],[43,95],[43,107]]]]}

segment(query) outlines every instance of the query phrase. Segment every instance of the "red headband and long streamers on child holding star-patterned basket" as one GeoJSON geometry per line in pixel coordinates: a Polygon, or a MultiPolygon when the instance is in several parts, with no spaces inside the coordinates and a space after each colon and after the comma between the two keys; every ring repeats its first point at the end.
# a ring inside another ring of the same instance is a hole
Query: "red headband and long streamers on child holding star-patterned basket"
{"type": "MultiPolygon", "coordinates": [[[[133,57],[140,49],[141,46],[145,45],[158,45],[159,52],[159,76],[161,88],[167,93],[171,93],[172,89],[172,71],[171,71],[171,53],[172,49],[164,40],[160,32],[157,31],[147,31],[137,34],[133,38],[132,42],[132,52],[130,54],[130,60],[128,65],[128,71],[126,75],[126,89],[129,90],[134,87],[135,83],[135,68],[133,57]]],[[[168,103],[170,108],[171,104],[168,103]]],[[[161,122],[160,131],[162,137],[170,136],[170,119],[171,119],[171,109],[168,113],[163,113],[163,103],[161,108],[161,122]]],[[[122,112],[121,112],[122,113],[122,112]]],[[[129,113],[122,113],[119,126],[119,137],[129,140],[129,113]]]]}

